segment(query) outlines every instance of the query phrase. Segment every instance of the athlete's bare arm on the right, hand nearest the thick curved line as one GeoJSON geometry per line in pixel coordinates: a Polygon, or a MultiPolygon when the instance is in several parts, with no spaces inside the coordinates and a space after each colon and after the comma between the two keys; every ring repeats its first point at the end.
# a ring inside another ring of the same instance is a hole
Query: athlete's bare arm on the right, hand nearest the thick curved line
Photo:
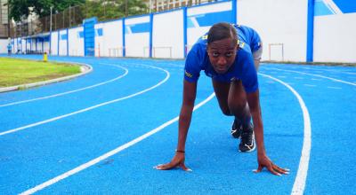
{"type": "Polygon", "coordinates": [[[255,173],[261,172],[265,167],[274,175],[288,174],[289,170],[287,168],[279,168],[277,165],[273,164],[273,162],[268,158],[264,149],[263,121],[260,107],[259,90],[255,90],[255,92],[252,93],[247,93],[247,102],[252,115],[252,120],[254,121],[255,140],[257,144],[258,168],[255,170],[255,173]]]}

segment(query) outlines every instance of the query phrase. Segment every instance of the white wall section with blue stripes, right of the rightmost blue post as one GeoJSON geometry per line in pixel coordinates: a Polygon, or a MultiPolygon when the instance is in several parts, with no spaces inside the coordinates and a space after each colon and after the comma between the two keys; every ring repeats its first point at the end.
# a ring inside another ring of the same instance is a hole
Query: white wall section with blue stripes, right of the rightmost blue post
{"type": "Polygon", "coordinates": [[[356,62],[356,3],[315,1],[314,61],[356,62]]]}

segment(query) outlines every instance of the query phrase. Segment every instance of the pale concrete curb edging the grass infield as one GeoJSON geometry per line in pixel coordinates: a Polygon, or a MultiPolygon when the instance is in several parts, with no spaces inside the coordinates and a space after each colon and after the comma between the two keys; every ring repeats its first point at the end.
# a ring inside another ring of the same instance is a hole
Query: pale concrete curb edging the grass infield
{"type": "Polygon", "coordinates": [[[33,83],[28,83],[28,84],[16,85],[16,86],[12,86],[12,87],[0,88],[0,93],[7,92],[7,91],[12,91],[12,90],[22,90],[22,89],[34,88],[34,87],[38,87],[38,86],[42,86],[42,85],[46,85],[46,84],[51,84],[51,83],[54,83],[54,82],[63,82],[63,81],[67,81],[69,79],[76,78],[78,76],[82,76],[82,75],[88,74],[88,73],[93,71],[93,67],[92,66],[87,65],[87,64],[83,64],[83,63],[59,62],[59,61],[52,61],[52,62],[55,62],[55,63],[68,63],[68,64],[70,63],[70,64],[79,65],[81,73],[73,74],[73,75],[69,75],[69,76],[64,76],[64,77],[61,77],[61,78],[51,79],[51,80],[44,81],[44,82],[33,82],[33,83]]]}

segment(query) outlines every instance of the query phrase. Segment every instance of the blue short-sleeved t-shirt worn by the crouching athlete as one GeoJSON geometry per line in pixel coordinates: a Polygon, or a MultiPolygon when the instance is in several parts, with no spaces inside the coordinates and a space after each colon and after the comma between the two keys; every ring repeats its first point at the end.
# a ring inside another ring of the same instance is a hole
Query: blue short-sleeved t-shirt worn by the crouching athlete
{"type": "Polygon", "coordinates": [[[239,51],[234,64],[225,74],[217,74],[210,63],[206,52],[207,35],[199,38],[188,53],[185,60],[184,79],[188,82],[198,82],[200,71],[219,82],[231,82],[239,79],[247,93],[258,89],[257,73],[252,53],[261,47],[260,36],[250,27],[234,25],[238,32],[239,51]]]}

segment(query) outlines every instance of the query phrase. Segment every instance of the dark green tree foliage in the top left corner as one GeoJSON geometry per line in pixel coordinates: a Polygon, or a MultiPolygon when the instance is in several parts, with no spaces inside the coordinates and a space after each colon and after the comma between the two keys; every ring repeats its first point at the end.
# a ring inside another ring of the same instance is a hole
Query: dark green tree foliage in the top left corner
{"type": "Polygon", "coordinates": [[[40,18],[53,12],[61,12],[69,6],[85,4],[85,0],[9,0],[10,17],[15,21],[28,18],[31,13],[36,13],[40,18]]]}

